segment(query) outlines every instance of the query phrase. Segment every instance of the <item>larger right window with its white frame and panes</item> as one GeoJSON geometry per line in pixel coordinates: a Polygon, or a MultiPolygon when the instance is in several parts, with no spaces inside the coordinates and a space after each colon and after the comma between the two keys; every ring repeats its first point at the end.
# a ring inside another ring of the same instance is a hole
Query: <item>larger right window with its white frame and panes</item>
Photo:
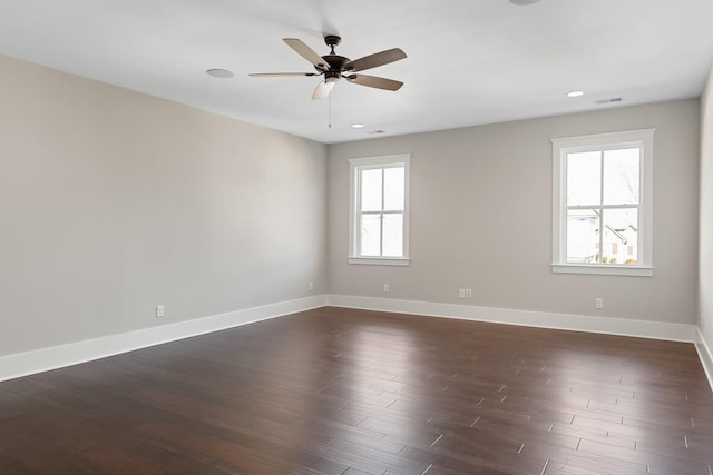
{"type": "Polygon", "coordinates": [[[654,129],[553,139],[553,271],[651,276],[654,129]]]}

